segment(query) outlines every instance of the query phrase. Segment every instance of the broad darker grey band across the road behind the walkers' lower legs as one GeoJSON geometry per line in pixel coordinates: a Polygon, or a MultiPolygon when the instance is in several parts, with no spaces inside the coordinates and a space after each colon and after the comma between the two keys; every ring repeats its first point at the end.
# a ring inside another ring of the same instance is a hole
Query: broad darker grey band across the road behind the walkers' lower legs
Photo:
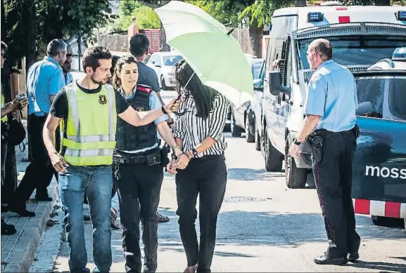
{"type": "MultiPolygon", "coordinates": [[[[158,229],[161,249],[183,251],[175,211],[160,209],[160,213],[171,218],[170,222],[160,224],[158,229]]],[[[199,230],[198,220],[196,230],[199,230]]],[[[362,240],[405,239],[402,229],[374,226],[371,218],[364,215],[357,215],[357,232],[362,240]]],[[[219,214],[217,221],[217,245],[296,248],[302,244],[324,241],[324,221],[317,213],[225,211],[219,214]]]]}

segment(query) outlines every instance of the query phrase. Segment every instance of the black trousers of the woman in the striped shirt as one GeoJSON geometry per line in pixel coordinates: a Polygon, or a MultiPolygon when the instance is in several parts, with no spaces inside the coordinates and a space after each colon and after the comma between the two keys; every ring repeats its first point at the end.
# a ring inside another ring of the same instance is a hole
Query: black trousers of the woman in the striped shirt
{"type": "Polygon", "coordinates": [[[187,265],[198,263],[198,272],[210,272],[215,249],[217,215],[227,184],[227,167],[223,156],[210,155],[191,159],[176,175],[179,232],[186,252],[187,265]],[[199,196],[200,246],[195,222],[199,196]]]}

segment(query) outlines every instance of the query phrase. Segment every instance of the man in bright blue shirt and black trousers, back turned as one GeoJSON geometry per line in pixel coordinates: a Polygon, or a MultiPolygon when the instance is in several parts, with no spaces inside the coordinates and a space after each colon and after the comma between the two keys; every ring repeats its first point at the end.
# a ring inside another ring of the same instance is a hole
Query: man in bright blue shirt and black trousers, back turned
{"type": "MultiPolygon", "coordinates": [[[[23,180],[15,191],[13,202],[8,209],[21,216],[32,217],[35,213],[27,211],[25,201],[30,199],[34,189],[38,201],[52,201],[47,187],[53,176],[53,166],[42,140],[42,129],[49,113],[49,108],[56,93],[65,86],[62,65],[66,60],[68,45],[61,39],[54,39],[46,48],[44,60],[34,63],[27,73],[28,134],[32,160],[25,170],[23,180]]],[[[59,134],[56,134],[58,147],[59,134]]]]}

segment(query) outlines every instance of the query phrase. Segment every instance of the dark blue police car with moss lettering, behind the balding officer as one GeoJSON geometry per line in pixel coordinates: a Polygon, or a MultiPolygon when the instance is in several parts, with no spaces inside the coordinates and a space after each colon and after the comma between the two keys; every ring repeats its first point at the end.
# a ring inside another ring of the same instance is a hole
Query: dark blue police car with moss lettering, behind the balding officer
{"type": "Polygon", "coordinates": [[[355,213],[376,225],[402,218],[406,229],[406,48],[354,72],[360,137],[353,162],[355,213]]]}

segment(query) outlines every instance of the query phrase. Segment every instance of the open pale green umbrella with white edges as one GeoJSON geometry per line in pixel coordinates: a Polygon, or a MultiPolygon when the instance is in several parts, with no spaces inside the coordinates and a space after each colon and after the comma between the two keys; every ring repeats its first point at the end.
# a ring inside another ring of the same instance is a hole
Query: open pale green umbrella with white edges
{"type": "Polygon", "coordinates": [[[189,63],[205,86],[240,106],[252,98],[253,74],[239,41],[201,8],[181,1],[155,9],[166,42],[189,63]]]}

